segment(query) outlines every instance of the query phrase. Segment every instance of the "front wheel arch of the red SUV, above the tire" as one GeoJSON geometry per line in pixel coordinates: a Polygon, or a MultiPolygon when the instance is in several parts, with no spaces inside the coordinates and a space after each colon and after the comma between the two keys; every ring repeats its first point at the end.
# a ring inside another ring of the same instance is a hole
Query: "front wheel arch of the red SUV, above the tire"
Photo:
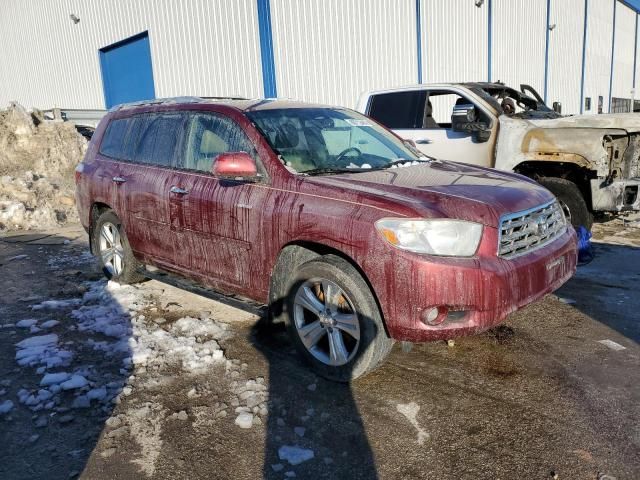
{"type": "Polygon", "coordinates": [[[319,242],[311,242],[311,241],[293,241],[282,247],[280,253],[278,254],[278,258],[276,259],[275,265],[271,272],[271,278],[269,281],[269,316],[270,321],[273,323],[280,323],[283,321],[282,315],[285,310],[285,295],[287,282],[285,274],[287,272],[291,272],[293,268],[298,265],[302,265],[310,260],[315,258],[323,257],[326,255],[335,255],[342,260],[349,263],[356,271],[360,274],[362,279],[365,281],[373,298],[376,302],[376,306],[378,307],[378,311],[380,312],[380,318],[382,318],[382,323],[385,329],[385,335],[389,338],[389,331],[387,329],[387,324],[384,318],[384,311],[381,308],[380,300],[378,299],[378,295],[376,294],[373,285],[369,281],[367,274],[364,272],[362,267],[356,262],[351,256],[347,255],[343,251],[325,245],[319,242]]]}

